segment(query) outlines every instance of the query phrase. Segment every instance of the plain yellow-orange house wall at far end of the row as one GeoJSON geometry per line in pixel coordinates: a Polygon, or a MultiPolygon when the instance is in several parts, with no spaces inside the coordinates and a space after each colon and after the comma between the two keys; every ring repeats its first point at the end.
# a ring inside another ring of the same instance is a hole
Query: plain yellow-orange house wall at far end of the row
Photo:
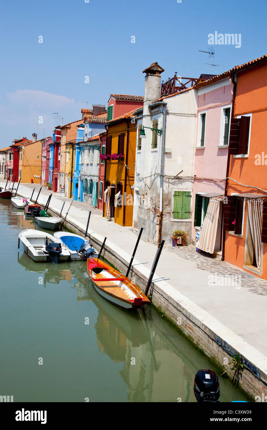
{"type": "Polygon", "coordinates": [[[33,133],[33,141],[25,143],[18,148],[18,178],[21,178],[22,184],[33,182],[41,184],[41,166],[42,166],[42,140],[36,139],[33,133]]]}

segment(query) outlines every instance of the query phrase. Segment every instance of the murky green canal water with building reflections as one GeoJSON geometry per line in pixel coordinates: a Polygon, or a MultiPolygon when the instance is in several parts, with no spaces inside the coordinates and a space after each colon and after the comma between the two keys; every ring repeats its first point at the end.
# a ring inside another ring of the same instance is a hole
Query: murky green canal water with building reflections
{"type": "MultiPolygon", "coordinates": [[[[85,261],[27,258],[18,234],[35,227],[0,199],[0,395],[14,402],[195,402],[195,373],[219,374],[216,366],[153,307],[129,312],[100,297],[85,261]]],[[[219,382],[221,402],[247,400],[228,379],[219,382]]]]}

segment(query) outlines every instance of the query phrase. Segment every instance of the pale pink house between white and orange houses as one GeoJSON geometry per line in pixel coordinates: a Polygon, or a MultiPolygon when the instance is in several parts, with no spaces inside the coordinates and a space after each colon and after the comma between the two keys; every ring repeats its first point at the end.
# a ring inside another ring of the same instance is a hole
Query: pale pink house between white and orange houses
{"type": "Polygon", "coordinates": [[[223,197],[219,196],[225,194],[233,89],[229,72],[195,86],[198,113],[193,173],[192,241],[196,243],[195,235],[204,221],[209,201],[211,198],[215,199],[216,218],[218,216],[213,234],[215,242],[208,244],[204,250],[210,253],[216,252],[218,256],[221,255],[222,249],[223,204],[223,197]]]}

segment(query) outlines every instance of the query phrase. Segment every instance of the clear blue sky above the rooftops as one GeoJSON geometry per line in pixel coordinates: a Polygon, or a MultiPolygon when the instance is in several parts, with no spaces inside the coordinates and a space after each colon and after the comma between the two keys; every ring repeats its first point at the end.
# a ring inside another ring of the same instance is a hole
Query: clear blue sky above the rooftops
{"type": "Polygon", "coordinates": [[[57,125],[53,112],[64,124],[78,120],[86,103],[76,100],[91,107],[107,105],[110,93],[143,95],[142,71],[154,61],[164,80],[210,73],[198,50],[215,31],[241,34],[240,48],[214,45],[216,74],[258,58],[267,53],[266,18],[260,0],[2,2],[0,147],[31,138],[40,116],[38,138],[57,125]]]}

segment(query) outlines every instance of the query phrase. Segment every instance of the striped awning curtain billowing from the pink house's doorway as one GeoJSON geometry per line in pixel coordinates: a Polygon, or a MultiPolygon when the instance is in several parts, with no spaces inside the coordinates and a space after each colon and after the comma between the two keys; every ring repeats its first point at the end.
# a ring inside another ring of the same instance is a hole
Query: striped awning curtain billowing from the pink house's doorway
{"type": "Polygon", "coordinates": [[[218,200],[210,199],[207,207],[207,213],[199,233],[199,240],[197,244],[198,249],[202,249],[202,251],[209,252],[210,254],[213,254],[215,246],[219,218],[219,206],[220,203],[218,200]]]}

